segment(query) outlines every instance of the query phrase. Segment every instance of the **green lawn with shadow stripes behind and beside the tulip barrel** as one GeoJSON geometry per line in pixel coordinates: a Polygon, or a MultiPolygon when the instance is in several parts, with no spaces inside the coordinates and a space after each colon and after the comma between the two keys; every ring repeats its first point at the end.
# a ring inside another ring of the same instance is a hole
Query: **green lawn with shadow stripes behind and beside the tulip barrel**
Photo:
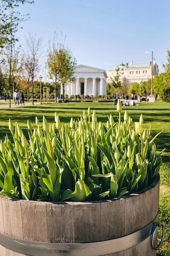
{"type": "MultiPolygon", "coordinates": [[[[88,106],[96,110],[98,121],[106,122],[107,115],[112,114],[115,121],[118,114],[112,103],[51,103],[42,106],[25,106],[24,108],[0,109],[0,139],[9,134],[8,120],[20,122],[20,126],[26,128],[27,119],[35,121],[35,116],[42,121],[44,115],[50,123],[54,122],[55,111],[63,122],[70,122],[71,117],[78,118],[88,106]]],[[[157,138],[158,150],[166,148],[163,153],[163,165],[161,166],[161,189],[160,189],[160,220],[165,225],[166,235],[159,256],[170,256],[170,103],[140,103],[139,106],[124,107],[133,121],[138,121],[140,114],[144,117],[144,128],[151,124],[152,135],[163,131],[157,138]]],[[[123,114],[122,114],[123,118],[123,114]]]]}

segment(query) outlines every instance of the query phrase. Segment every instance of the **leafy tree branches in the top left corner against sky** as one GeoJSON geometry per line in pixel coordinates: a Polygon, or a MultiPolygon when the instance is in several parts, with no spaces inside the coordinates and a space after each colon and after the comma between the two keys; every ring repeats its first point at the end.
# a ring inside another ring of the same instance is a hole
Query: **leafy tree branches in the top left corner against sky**
{"type": "Polygon", "coordinates": [[[0,48],[4,48],[18,40],[15,33],[20,22],[29,18],[16,11],[20,4],[32,4],[32,0],[0,0],[0,48]]]}

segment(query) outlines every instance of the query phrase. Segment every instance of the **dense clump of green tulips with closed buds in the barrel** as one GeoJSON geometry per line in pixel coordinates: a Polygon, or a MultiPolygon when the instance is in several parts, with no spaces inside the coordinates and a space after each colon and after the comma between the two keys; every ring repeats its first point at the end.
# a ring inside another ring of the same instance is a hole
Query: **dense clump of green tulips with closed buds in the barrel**
{"type": "Polygon", "coordinates": [[[128,113],[121,119],[108,116],[97,122],[95,110],[83,112],[70,124],[60,122],[28,125],[29,140],[20,125],[9,119],[13,142],[0,141],[0,194],[10,198],[45,201],[87,201],[121,197],[149,186],[159,172],[161,153],[156,154],[150,129],[143,117],[133,123],[128,113]],[[135,128],[134,128],[135,126],[135,128]]]}

